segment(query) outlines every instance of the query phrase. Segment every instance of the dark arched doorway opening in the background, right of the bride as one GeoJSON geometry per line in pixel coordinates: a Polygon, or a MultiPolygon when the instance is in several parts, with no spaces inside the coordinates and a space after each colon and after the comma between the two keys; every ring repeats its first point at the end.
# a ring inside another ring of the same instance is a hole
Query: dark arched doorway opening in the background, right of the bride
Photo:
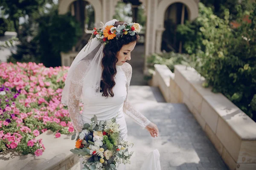
{"type": "Polygon", "coordinates": [[[161,51],[181,52],[181,43],[176,35],[177,26],[189,19],[187,7],[183,3],[173,3],[165,11],[161,51]]]}

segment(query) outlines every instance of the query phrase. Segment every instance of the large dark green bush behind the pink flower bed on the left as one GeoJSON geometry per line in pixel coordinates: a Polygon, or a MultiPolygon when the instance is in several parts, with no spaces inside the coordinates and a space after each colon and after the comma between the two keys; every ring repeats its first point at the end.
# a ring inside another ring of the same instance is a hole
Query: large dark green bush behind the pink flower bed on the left
{"type": "Polygon", "coordinates": [[[79,23],[70,14],[58,15],[57,10],[35,22],[29,20],[22,25],[17,52],[8,62],[44,63],[46,67],[61,65],[60,52],[70,51],[81,36],[79,23]]]}

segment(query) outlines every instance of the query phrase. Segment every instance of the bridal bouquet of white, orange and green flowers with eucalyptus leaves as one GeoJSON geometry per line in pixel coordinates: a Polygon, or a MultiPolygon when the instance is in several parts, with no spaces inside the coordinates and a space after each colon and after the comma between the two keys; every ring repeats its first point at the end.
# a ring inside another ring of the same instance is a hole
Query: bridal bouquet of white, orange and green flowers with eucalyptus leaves
{"type": "Polygon", "coordinates": [[[83,170],[116,170],[116,163],[130,164],[133,152],[129,153],[131,142],[119,137],[116,119],[98,121],[96,115],[91,123],[85,123],[83,131],[72,136],[76,148],[70,151],[83,158],[83,170]]]}

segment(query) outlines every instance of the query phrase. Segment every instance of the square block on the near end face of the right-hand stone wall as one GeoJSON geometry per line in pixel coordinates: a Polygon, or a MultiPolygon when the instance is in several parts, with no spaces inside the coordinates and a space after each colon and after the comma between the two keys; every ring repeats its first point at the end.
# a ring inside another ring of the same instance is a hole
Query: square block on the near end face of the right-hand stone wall
{"type": "Polygon", "coordinates": [[[256,164],[256,141],[242,141],[237,163],[256,164]]]}

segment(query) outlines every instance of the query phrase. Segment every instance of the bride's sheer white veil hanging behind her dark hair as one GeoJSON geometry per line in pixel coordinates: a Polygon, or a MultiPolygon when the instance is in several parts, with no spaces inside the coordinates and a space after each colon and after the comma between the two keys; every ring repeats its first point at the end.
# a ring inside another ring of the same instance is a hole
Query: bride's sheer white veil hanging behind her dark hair
{"type": "MultiPolygon", "coordinates": [[[[117,20],[111,20],[105,23],[102,28],[108,25],[113,25],[117,20]]],[[[91,39],[83,49],[77,54],[76,58],[72,62],[65,80],[65,86],[62,91],[61,103],[69,105],[69,98],[72,96],[80,100],[80,89],[72,89],[72,86],[83,86],[83,88],[92,88],[95,95],[99,94],[100,80],[102,75],[101,61],[103,58],[102,44],[97,38],[91,39]],[[84,65],[86,69],[81,69],[81,65],[84,65]],[[72,89],[72,91],[70,91],[72,89]]]]}

